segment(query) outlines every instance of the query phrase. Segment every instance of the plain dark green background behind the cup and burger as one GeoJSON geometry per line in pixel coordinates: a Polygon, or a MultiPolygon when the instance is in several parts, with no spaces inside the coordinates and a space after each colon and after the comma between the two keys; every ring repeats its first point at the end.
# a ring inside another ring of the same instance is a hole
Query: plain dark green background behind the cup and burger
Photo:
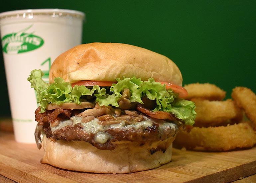
{"type": "MultiPolygon", "coordinates": [[[[0,12],[36,8],[84,12],[83,43],[127,43],[166,55],[183,84],[213,83],[227,98],[236,86],[256,92],[256,1],[9,0],[0,12]]],[[[2,54],[0,86],[0,116],[10,116],[2,54]]]]}

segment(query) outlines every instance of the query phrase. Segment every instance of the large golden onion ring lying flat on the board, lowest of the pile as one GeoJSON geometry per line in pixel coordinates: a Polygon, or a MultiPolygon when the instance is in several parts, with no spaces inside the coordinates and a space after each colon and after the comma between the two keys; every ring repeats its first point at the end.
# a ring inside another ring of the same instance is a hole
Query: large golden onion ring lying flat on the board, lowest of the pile
{"type": "Polygon", "coordinates": [[[251,148],[255,144],[256,132],[250,121],[219,127],[192,127],[190,132],[180,130],[174,141],[175,147],[217,152],[251,148]]]}

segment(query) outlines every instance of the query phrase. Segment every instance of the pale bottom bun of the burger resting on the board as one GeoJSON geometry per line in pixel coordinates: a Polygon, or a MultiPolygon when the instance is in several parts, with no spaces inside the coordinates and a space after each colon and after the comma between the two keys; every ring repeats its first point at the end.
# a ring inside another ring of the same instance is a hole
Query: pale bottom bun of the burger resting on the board
{"type": "Polygon", "coordinates": [[[131,173],[171,161],[174,138],[145,145],[119,142],[116,148],[99,150],[84,141],[53,141],[43,136],[42,163],[68,170],[94,173],[131,173]]]}

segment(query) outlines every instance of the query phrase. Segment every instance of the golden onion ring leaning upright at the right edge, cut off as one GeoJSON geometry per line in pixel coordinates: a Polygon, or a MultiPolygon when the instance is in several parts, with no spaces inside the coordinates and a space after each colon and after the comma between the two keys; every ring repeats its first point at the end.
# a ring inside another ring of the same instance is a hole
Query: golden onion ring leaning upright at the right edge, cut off
{"type": "Polygon", "coordinates": [[[256,130],[256,95],[251,89],[246,87],[236,87],[231,93],[231,97],[239,107],[242,107],[247,117],[254,123],[256,130]]]}

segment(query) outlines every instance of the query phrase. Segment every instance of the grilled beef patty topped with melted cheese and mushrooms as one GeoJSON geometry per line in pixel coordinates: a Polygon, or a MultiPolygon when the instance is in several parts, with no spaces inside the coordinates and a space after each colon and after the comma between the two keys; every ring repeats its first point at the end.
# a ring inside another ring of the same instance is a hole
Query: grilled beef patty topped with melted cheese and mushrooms
{"type": "Polygon", "coordinates": [[[41,133],[54,141],[86,141],[100,150],[113,150],[120,141],[144,145],[172,139],[179,129],[173,121],[151,118],[137,111],[117,113],[107,107],[94,109],[80,113],[55,109],[42,114],[39,113],[40,108],[37,109],[35,137],[38,148],[41,148],[41,133]]]}

